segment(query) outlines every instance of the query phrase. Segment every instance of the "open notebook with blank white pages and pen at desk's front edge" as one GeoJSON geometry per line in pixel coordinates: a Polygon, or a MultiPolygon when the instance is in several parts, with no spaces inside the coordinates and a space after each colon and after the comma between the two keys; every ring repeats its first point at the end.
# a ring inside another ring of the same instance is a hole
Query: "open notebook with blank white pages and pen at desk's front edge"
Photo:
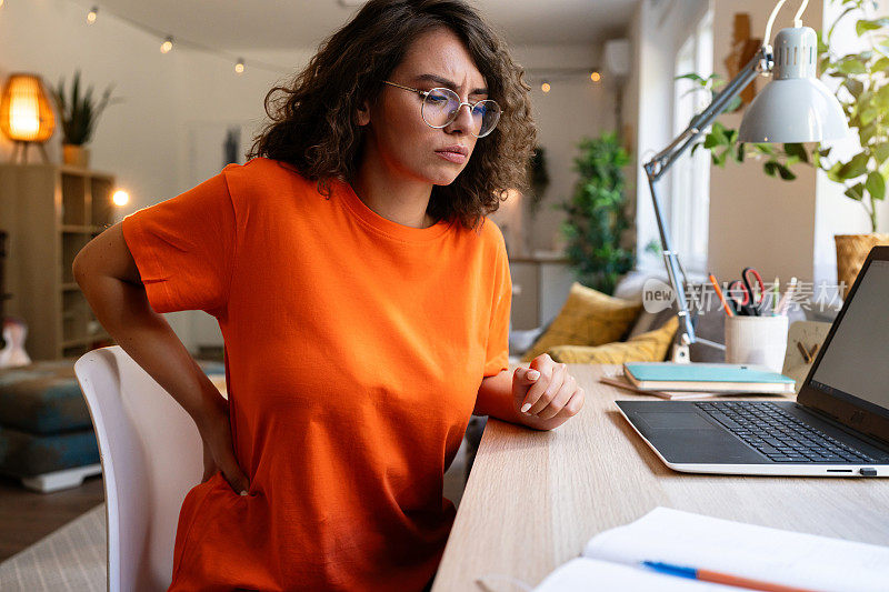
{"type": "Polygon", "coordinates": [[[647,561],[806,590],[878,592],[886,590],[889,548],[656,508],[590,539],[535,592],[739,590],[666,575],[643,566],[647,561]]]}

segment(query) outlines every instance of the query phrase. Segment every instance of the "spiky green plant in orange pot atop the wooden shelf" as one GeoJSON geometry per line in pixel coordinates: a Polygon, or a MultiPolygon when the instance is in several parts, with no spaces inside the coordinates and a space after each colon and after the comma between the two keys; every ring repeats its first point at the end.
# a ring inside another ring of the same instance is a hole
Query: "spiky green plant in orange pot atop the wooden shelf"
{"type": "Polygon", "coordinates": [[[99,116],[104,108],[120,101],[111,99],[112,88],[113,86],[109,86],[98,101],[92,98],[92,87],[81,96],[80,70],[78,70],[71,82],[70,98],[66,98],[63,78],[59,80],[57,88],[51,89],[62,121],[62,158],[66,164],[83,168],[89,165],[89,149],[84,148],[84,144],[92,138],[99,116]]]}

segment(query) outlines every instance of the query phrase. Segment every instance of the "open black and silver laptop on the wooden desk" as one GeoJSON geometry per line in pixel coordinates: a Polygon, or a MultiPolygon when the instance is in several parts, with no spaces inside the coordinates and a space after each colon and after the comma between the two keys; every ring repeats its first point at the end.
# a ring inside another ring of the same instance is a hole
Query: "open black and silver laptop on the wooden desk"
{"type": "Polygon", "coordinates": [[[889,247],[875,247],[796,401],[617,401],[667,466],[889,476],[889,247]]]}

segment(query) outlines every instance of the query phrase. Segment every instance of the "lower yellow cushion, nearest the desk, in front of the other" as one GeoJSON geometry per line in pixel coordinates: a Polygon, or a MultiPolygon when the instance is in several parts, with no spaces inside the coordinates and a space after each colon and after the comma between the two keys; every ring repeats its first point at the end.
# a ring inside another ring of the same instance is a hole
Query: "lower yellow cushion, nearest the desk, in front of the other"
{"type": "Polygon", "coordinates": [[[660,362],[667,358],[677,329],[679,329],[679,318],[671,317],[660,329],[641,333],[629,341],[597,347],[557,345],[548,353],[555,361],[566,364],[660,362]]]}

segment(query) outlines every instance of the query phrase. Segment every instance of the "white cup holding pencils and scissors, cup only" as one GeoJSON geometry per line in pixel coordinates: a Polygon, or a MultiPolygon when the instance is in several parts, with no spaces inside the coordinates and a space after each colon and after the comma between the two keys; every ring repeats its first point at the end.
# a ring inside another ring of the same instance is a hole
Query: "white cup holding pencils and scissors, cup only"
{"type": "Polygon", "coordinates": [[[775,317],[727,317],[726,362],[761,364],[775,372],[785,365],[787,352],[786,314],[775,317]]]}

